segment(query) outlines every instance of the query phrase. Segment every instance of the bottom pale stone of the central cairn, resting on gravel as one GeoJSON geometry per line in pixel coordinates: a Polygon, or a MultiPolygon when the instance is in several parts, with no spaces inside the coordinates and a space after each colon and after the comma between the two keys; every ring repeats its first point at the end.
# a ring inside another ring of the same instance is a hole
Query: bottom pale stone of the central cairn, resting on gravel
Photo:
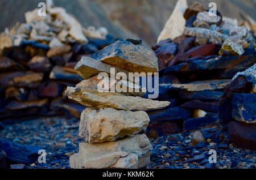
{"type": "Polygon", "coordinates": [[[150,162],[151,149],[144,134],[116,142],[80,143],[69,164],[73,169],[143,168],[150,162]]]}

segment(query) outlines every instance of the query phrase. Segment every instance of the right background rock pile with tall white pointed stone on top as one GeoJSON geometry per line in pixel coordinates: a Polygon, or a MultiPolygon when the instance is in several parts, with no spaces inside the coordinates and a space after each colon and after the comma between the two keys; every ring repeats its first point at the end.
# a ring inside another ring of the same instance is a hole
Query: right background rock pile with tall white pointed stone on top
{"type": "Polygon", "coordinates": [[[218,100],[237,72],[256,63],[255,38],[236,19],[179,0],[152,49],[159,60],[159,99],[148,113],[152,136],[191,131],[218,121],[218,100]],[[168,128],[167,128],[168,127],[168,128]]]}

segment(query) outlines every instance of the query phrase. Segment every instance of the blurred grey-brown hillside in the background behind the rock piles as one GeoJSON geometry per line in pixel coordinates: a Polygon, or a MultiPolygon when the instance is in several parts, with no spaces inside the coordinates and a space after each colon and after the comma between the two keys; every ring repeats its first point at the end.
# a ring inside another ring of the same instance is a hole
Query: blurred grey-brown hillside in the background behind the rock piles
{"type": "MultiPolygon", "coordinates": [[[[0,31],[12,27],[16,22],[25,22],[23,14],[37,7],[39,0],[2,0],[0,2],[0,31]],[[18,7],[18,8],[17,8],[18,7]],[[10,12],[15,12],[10,14],[10,12]]],[[[164,24],[174,10],[177,0],[161,1],[119,1],[119,0],[56,0],[56,6],[64,7],[76,16],[84,27],[93,25],[96,28],[106,27],[115,37],[139,37],[149,46],[154,45],[164,24]],[[93,20],[92,20],[93,19],[93,20]],[[131,23],[133,22],[133,23],[131,23]],[[133,24],[136,24],[135,26],[133,24]]],[[[195,0],[188,1],[191,5],[195,0]]],[[[255,0],[200,0],[205,7],[209,2],[216,2],[217,9],[224,16],[243,19],[243,15],[250,15],[256,20],[254,10],[255,0]]]]}

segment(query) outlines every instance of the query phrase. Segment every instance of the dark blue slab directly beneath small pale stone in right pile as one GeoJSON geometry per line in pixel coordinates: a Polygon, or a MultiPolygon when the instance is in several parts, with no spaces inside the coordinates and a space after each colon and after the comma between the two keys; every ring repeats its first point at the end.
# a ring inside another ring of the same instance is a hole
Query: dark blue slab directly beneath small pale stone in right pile
{"type": "Polygon", "coordinates": [[[190,118],[184,121],[184,131],[196,130],[218,121],[217,117],[190,118]]]}

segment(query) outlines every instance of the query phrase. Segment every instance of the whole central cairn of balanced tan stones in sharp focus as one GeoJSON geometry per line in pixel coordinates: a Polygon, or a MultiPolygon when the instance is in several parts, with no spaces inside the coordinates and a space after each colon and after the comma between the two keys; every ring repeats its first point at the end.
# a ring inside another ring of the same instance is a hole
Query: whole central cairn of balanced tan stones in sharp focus
{"type": "Polygon", "coordinates": [[[75,70],[85,80],[76,87],[67,87],[65,94],[88,108],[81,114],[79,128],[85,142],[79,144],[79,153],[70,157],[71,168],[146,166],[152,147],[143,134],[150,122],[144,111],[165,108],[170,102],[140,97],[144,93],[137,82],[120,80],[118,74],[158,72],[154,52],[141,40],[119,40],[82,57],[75,70]],[[119,91],[124,88],[126,91],[119,91]]]}

